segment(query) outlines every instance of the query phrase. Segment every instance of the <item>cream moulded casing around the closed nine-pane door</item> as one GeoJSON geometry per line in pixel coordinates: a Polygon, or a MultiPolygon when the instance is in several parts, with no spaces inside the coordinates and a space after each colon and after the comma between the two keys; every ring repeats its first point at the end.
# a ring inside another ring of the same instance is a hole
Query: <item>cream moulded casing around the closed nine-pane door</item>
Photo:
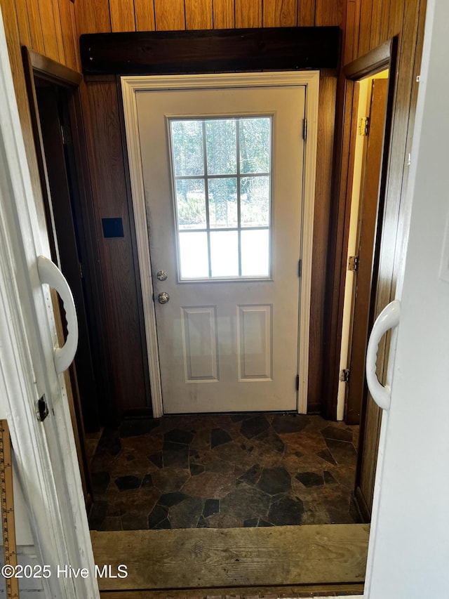
{"type": "MultiPolygon", "coordinates": [[[[304,171],[302,192],[300,278],[300,317],[298,335],[298,390],[297,412],[307,413],[307,383],[309,370],[309,328],[311,293],[311,258],[314,232],[314,201],[316,172],[316,143],[318,135],[319,71],[264,72],[202,75],[163,75],[121,77],[123,112],[125,118],[131,195],[138,246],[140,281],[145,317],[150,387],[154,418],[163,415],[159,348],[156,333],[156,312],[153,301],[153,281],[142,159],[140,157],[138,112],[136,94],[142,91],[179,90],[227,87],[305,86],[307,138],[304,143],[304,171]]],[[[300,134],[300,132],[298,132],[300,134]]]]}

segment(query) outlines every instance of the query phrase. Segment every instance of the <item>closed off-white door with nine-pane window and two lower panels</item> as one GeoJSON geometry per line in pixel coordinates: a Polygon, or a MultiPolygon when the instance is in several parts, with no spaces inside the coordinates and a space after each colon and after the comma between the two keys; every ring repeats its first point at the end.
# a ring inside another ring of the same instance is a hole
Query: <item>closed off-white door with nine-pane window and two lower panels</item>
{"type": "Polygon", "coordinates": [[[297,409],[304,100],[138,93],[166,414],[297,409]]]}

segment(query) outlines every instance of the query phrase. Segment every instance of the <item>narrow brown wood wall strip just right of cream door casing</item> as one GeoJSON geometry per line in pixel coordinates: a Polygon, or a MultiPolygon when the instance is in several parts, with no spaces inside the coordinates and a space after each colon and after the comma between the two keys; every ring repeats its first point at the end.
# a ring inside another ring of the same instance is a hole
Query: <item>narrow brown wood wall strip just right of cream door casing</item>
{"type": "Polygon", "coordinates": [[[324,317],[336,91],[337,77],[320,78],[307,398],[310,406],[321,404],[323,380],[327,376],[323,371],[323,355],[328,345],[324,334],[324,317]]]}

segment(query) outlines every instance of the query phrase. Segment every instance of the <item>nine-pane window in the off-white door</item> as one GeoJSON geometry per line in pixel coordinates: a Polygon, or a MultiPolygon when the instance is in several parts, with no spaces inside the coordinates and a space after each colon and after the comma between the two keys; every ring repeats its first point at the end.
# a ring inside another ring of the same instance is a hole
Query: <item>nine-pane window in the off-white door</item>
{"type": "Polygon", "coordinates": [[[269,278],[272,117],[169,119],[180,280],[269,278]]]}

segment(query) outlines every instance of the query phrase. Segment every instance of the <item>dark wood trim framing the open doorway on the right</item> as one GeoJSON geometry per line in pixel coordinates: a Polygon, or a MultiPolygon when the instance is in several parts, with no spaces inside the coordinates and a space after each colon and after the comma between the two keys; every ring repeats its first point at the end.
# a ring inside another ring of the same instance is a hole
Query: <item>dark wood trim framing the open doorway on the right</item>
{"type": "MultiPolygon", "coordinates": [[[[396,59],[398,39],[394,37],[379,48],[368,52],[344,67],[339,81],[337,93],[337,132],[336,160],[334,171],[334,210],[330,220],[330,238],[328,253],[328,284],[326,293],[326,338],[329,339],[328,353],[325,356],[326,372],[329,373],[323,397],[322,414],[325,418],[335,420],[337,416],[338,375],[340,369],[340,345],[342,336],[342,314],[344,301],[344,275],[346,272],[346,254],[349,235],[349,216],[351,199],[347,194],[350,129],[347,119],[348,103],[352,104],[353,81],[363,79],[388,68],[389,91],[387,100],[387,121],[385,125],[384,156],[382,157],[382,176],[380,180],[380,196],[376,225],[375,258],[373,261],[372,289],[377,285],[378,254],[382,230],[382,215],[388,180],[389,161],[387,154],[391,145],[391,119],[394,106],[394,90],[396,83],[396,59]],[[388,54],[387,54],[388,51],[388,54]],[[370,70],[369,65],[372,65],[370,70]],[[349,75],[348,75],[349,74],[349,75]],[[385,154],[387,152],[387,154],[385,154]]],[[[373,302],[372,302],[373,303],[373,302]]],[[[372,315],[370,315],[372,319],[372,315]]],[[[373,322],[372,320],[370,322],[373,322]]]]}

